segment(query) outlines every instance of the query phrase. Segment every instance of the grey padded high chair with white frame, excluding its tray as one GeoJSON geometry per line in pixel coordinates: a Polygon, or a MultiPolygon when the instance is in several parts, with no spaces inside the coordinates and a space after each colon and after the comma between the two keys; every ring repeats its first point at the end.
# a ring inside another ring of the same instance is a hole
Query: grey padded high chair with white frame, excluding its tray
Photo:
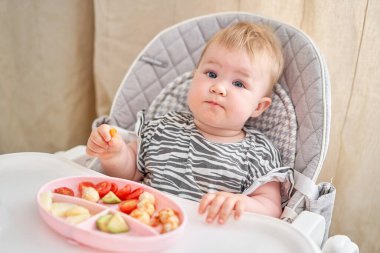
{"type": "MultiPolygon", "coordinates": [[[[238,21],[271,26],[283,48],[285,68],[274,88],[273,104],[258,119],[247,122],[276,144],[284,166],[294,168],[294,191],[282,219],[310,236],[324,253],[359,252],[347,236],[327,240],[335,188],[331,183],[315,182],[329,142],[330,80],[317,46],[293,26],[250,13],[229,12],[193,18],[167,28],[136,58],[119,87],[110,115],[99,117],[93,127],[114,125],[128,141],[134,138],[130,130],[138,111],[147,109],[149,118],[170,110],[187,110],[191,71],[205,42],[216,31],[238,21]]],[[[84,155],[84,148],[59,154],[101,170],[84,155]]]]}

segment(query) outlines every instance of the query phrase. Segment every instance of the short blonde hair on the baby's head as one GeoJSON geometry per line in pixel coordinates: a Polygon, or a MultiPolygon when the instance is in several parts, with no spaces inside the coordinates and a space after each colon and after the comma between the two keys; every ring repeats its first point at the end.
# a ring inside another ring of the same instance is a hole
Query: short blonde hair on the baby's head
{"type": "Polygon", "coordinates": [[[215,33],[207,42],[199,62],[212,43],[218,43],[229,49],[243,49],[251,57],[252,62],[257,62],[262,57],[266,58],[270,70],[270,92],[272,91],[273,85],[282,74],[284,57],[281,44],[270,27],[247,22],[226,27],[215,33]]]}

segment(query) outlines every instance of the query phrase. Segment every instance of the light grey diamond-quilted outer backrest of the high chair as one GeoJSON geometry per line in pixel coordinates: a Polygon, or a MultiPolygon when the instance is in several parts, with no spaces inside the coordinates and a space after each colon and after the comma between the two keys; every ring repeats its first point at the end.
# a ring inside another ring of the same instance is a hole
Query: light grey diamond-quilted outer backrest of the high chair
{"type": "Polygon", "coordinates": [[[297,28],[278,21],[248,13],[218,13],[164,30],[140,53],[124,77],[112,105],[111,120],[133,129],[138,111],[148,108],[172,80],[195,68],[212,34],[238,21],[269,25],[281,41],[285,69],[279,83],[292,99],[298,125],[294,169],[315,181],[329,134],[327,71],[313,42],[297,28]]]}

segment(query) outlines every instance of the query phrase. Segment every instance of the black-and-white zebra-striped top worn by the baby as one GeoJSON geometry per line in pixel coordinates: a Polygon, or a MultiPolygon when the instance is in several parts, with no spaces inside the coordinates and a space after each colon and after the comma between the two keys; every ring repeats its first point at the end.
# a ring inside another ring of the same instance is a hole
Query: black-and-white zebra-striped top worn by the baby
{"type": "MultiPolygon", "coordinates": [[[[208,192],[250,194],[270,181],[289,181],[280,153],[262,133],[244,128],[236,143],[213,143],[197,130],[192,114],[170,112],[145,122],[139,113],[137,167],[143,183],[200,200],[208,192]]],[[[291,180],[292,181],[292,180],[291,180]]]]}

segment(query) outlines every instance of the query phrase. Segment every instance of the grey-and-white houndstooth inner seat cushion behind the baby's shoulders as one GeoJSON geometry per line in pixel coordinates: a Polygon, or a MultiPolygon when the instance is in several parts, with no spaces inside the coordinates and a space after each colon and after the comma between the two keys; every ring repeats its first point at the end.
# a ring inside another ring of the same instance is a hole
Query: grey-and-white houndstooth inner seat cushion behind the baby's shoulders
{"type": "MultiPolygon", "coordinates": [[[[145,112],[147,120],[170,111],[190,111],[187,93],[192,80],[192,72],[186,72],[169,83],[153,100],[145,112]]],[[[264,133],[279,149],[282,166],[294,167],[296,152],[297,122],[292,101],[277,84],[274,86],[272,105],[258,118],[251,118],[246,126],[264,133]]]]}

